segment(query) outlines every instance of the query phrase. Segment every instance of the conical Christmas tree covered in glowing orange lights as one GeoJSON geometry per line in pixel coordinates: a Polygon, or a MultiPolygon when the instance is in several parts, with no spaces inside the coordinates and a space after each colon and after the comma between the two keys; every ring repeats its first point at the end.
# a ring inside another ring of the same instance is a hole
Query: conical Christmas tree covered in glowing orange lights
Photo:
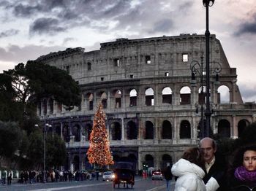
{"type": "Polygon", "coordinates": [[[91,164],[100,166],[113,164],[108,133],[105,127],[105,113],[101,103],[98,106],[97,112],[94,114],[94,124],[90,134],[90,145],[86,155],[91,164]]]}

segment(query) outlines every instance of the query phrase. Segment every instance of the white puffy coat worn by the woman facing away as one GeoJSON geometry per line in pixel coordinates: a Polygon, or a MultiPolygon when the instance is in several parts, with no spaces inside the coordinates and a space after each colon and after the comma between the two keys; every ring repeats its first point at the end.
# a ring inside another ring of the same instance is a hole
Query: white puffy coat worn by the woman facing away
{"type": "Polygon", "coordinates": [[[178,176],[175,184],[175,191],[214,191],[219,187],[216,179],[211,178],[205,185],[202,168],[188,160],[181,158],[172,167],[173,176],[178,176]]]}

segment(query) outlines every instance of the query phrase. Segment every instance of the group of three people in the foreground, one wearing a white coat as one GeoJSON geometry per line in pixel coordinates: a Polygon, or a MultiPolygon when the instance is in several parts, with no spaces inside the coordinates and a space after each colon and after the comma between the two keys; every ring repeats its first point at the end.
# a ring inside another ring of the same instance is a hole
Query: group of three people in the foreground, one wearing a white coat
{"type": "Polygon", "coordinates": [[[200,140],[200,147],[187,149],[171,168],[175,191],[256,190],[256,145],[238,148],[232,158],[226,161],[217,152],[214,139],[200,140]]]}

